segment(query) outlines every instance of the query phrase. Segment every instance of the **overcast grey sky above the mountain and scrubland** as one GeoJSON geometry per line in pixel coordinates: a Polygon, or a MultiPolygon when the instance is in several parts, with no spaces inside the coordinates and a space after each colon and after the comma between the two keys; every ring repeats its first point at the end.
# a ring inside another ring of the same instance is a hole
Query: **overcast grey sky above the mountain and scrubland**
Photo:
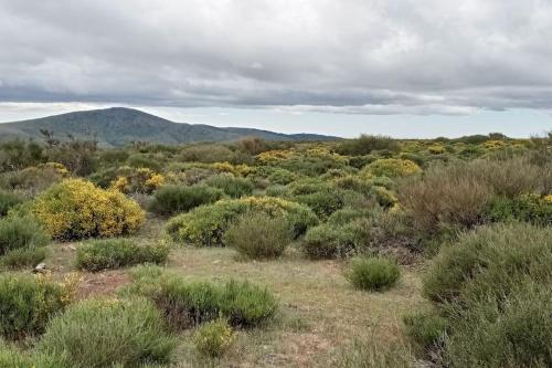
{"type": "Polygon", "coordinates": [[[552,0],[0,0],[0,122],[106,106],[286,133],[543,133],[552,0]]]}

